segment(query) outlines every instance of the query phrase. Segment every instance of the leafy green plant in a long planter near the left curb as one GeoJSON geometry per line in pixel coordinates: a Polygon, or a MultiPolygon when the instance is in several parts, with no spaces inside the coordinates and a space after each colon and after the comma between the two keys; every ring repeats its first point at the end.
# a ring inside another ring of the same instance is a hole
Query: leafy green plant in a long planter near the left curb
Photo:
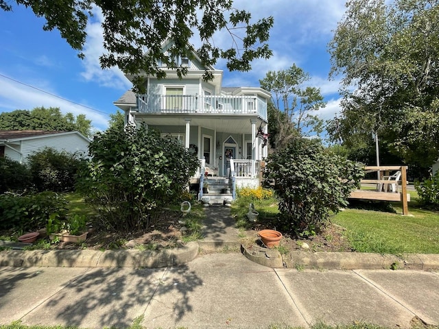
{"type": "Polygon", "coordinates": [[[86,216],[75,214],[62,221],[58,214],[52,214],[47,221],[46,232],[49,239],[63,242],[81,243],[87,239],[86,216]]]}

